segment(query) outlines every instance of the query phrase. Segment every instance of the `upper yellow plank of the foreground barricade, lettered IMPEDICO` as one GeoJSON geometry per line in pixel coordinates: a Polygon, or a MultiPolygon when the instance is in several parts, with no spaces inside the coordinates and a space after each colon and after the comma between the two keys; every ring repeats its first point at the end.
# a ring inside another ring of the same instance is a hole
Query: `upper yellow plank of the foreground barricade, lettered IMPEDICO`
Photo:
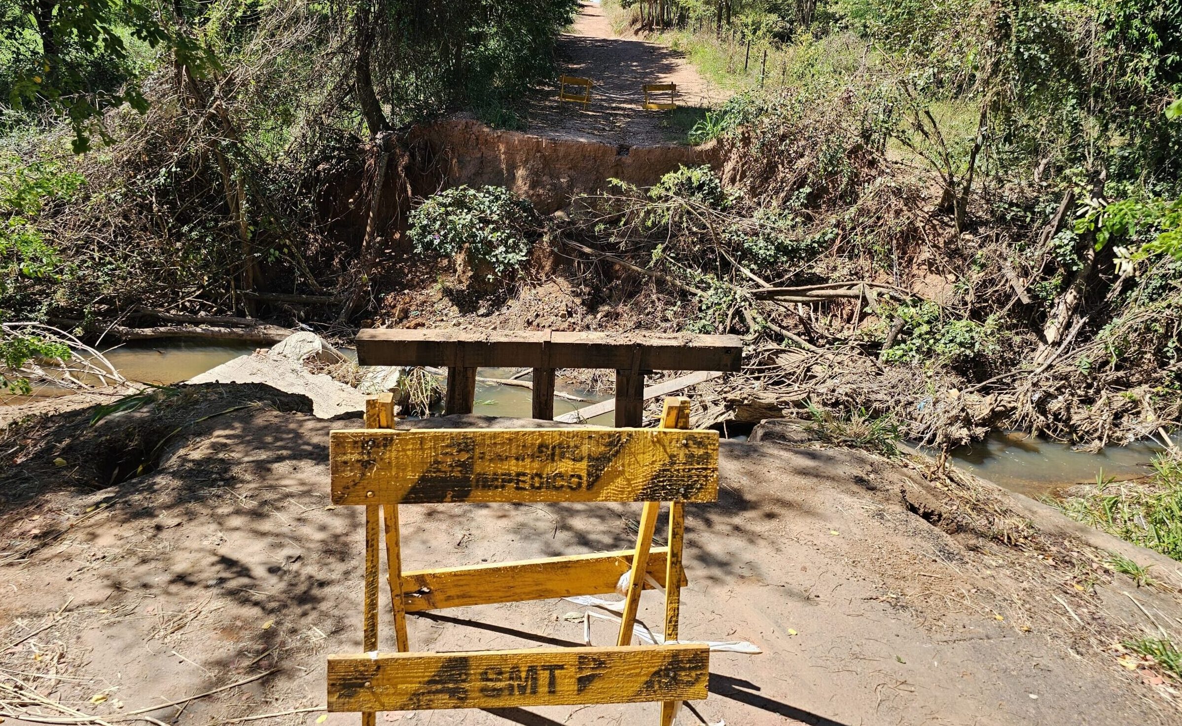
{"type": "Polygon", "coordinates": [[[717,432],[343,429],[333,504],[715,501],[717,432]]]}

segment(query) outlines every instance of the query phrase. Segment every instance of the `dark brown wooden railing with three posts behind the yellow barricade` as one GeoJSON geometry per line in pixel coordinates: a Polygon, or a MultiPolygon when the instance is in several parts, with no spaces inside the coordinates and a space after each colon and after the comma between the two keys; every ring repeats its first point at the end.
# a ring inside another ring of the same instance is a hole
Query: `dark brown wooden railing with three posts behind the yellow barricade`
{"type": "MultiPolygon", "coordinates": [[[[533,417],[554,417],[554,369],[616,370],[616,426],[641,426],[644,376],[655,370],[738,371],[738,336],[559,331],[363,330],[362,365],[447,368],[444,414],[470,414],[478,368],[532,368],[533,417]]],[[[671,393],[671,391],[670,391],[671,393]]]]}

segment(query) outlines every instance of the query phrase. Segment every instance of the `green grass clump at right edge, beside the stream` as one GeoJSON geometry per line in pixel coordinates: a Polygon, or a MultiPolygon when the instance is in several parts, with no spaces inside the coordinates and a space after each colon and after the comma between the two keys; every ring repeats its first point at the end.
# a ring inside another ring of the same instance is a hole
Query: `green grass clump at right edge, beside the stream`
{"type": "Polygon", "coordinates": [[[1162,454],[1152,466],[1144,481],[1102,480],[1058,507],[1077,521],[1182,560],[1182,455],[1162,454]]]}

